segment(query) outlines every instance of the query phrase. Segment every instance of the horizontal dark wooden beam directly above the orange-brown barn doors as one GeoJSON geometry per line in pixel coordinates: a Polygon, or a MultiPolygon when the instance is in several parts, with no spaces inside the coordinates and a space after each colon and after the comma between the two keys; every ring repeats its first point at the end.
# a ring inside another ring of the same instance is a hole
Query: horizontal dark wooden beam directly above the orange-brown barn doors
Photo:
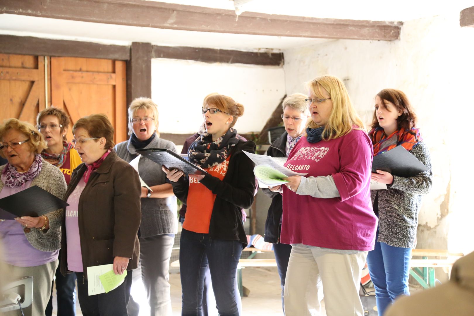
{"type": "Polygon", "coordinates": [[[128,60],[130,58],[130,48],[128,46],[12,35],[0,35],[0,52],[3,54],[106,58],[116,60],[128,60]]]}

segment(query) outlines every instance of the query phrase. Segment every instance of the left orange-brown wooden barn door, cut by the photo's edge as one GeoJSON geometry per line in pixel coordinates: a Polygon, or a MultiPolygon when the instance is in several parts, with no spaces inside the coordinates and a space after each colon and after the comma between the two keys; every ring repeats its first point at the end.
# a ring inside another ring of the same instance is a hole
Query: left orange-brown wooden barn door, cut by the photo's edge
{"type": "Polygon", "coordinates": [[[46,96],[44,56],[0,54],[0,123],[18,118],[36,125],[46,96]]]}

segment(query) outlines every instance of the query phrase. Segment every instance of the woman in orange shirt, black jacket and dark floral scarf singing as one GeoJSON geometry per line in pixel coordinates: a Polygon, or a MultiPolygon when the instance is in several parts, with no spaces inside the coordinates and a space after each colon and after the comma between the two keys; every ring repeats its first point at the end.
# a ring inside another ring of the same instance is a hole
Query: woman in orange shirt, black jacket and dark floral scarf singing
{"type": "Polygon", "coordinates": [[[244,106],[213,93],[202,103],[206,133],[188,151],[189,161],[209,175],[189,175],[163,167],[173,192],[187,205],[182,225],[180,271],[182,315],[201,316],[204,274],[209,265],[219,315],[238,315],[234,281],[247,237],[241,208],[254,201],[254,164],[243,151],[255,143],[237,137],[233,128],[244,106]]]}

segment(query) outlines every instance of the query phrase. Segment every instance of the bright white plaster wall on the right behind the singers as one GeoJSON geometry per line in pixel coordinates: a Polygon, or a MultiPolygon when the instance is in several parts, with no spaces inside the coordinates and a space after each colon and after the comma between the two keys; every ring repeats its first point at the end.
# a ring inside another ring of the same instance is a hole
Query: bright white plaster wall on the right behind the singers
{"type": "Polygon", "coordinates": [[[433,187],[419,214],[420,248],[474,250],[470,127],[473,124],[474,28],[459,26],[459,11],[405,22],[393,42],[338,40],[284,51],[288,94],[331,74],[343,79],[369,123],[374,95],[404,91],[433,164],[433,187]]]}

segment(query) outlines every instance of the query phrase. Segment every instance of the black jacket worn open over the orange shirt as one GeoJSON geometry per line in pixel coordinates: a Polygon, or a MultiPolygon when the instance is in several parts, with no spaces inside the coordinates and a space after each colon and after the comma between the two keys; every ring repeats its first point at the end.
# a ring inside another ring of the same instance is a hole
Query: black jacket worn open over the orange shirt
{"type": "MultiPolygon", "coordinates": [[[[254,202],[254,163],[242,151],[255,153],[255,143],[240,140],[230,151],[227,173],[222,181],[205,176],[200,182],[216,194],[210,217],[209,235],[214,239],[238,240],[247,245],[241,208],[250,208],[254,202]]],[[[181,177],[171,182],[174,195],[187,204],[189,180],[181,177]]]]}

